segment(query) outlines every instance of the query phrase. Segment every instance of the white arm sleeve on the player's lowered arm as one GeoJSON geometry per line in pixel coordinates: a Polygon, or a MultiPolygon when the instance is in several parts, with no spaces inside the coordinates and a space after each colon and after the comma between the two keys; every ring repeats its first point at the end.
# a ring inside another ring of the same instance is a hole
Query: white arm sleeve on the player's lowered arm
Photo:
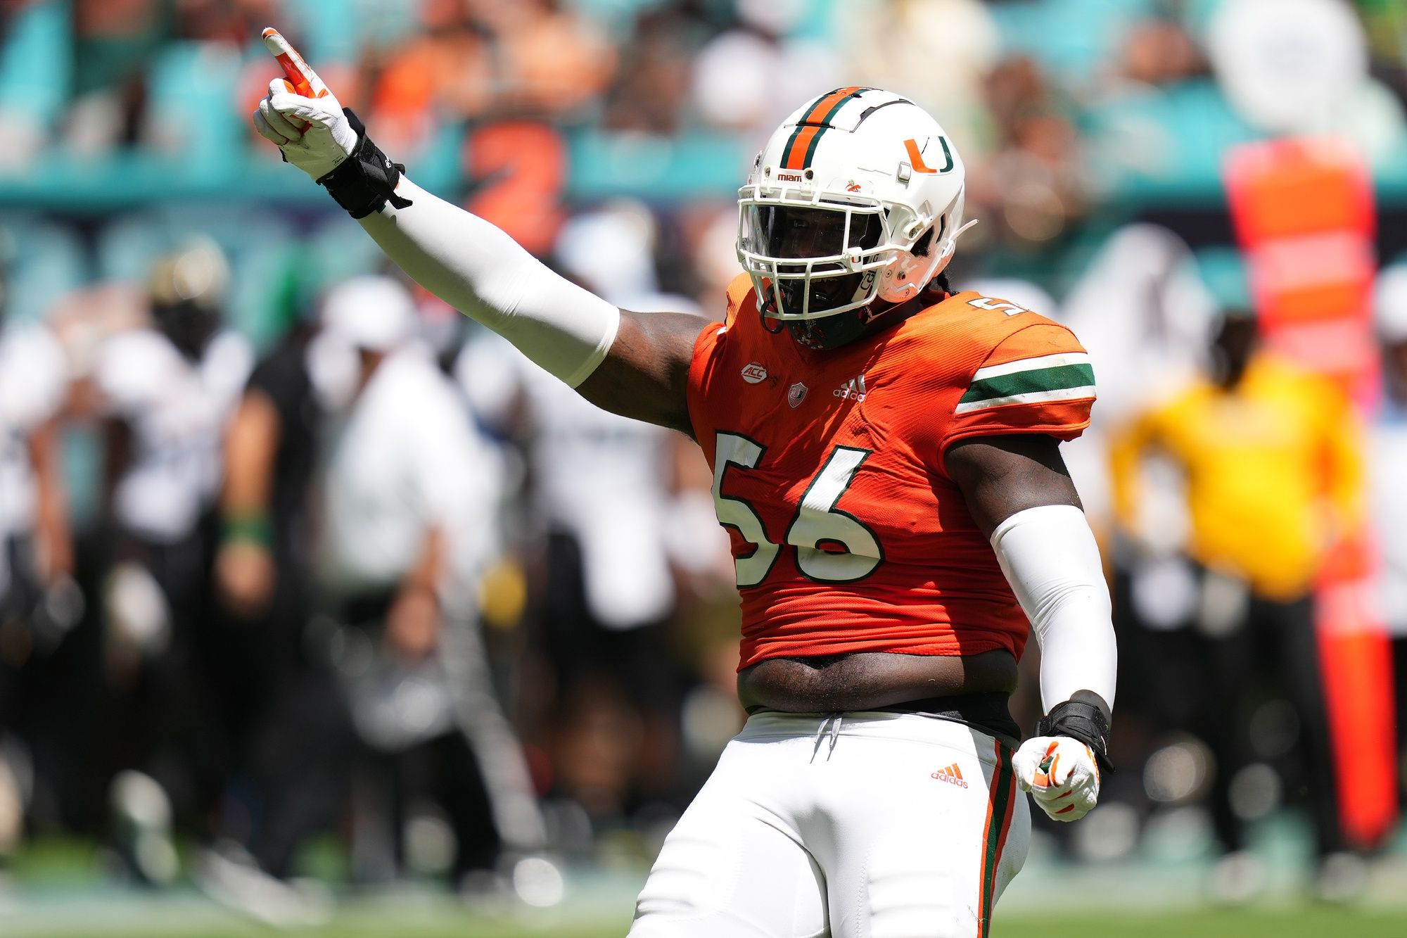
{"type": "Polygon", "coordinates": [[[1068,504],[1017,511],[992,532],[992,549],[1041,646],[1043,710],[1076,690],[1093,690],[1113,707],[1119,649],[1085,513],[1068,504]]]}

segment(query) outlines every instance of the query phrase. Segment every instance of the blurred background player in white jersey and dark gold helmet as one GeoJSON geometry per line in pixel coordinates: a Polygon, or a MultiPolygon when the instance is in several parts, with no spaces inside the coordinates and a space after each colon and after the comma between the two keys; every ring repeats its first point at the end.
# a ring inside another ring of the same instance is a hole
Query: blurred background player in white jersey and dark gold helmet
{"type": "Polygon", "coordinates": [[[228,282],[210,241],[160,258],[151,325],[108,339],[96,368],[107,404],[110,738],[129,770],[114,804],[132,828],[124,846],[134,872],[153,882],[174,876],[176,858],[155,846],[167,832],[149,821],[152,804],[170,799],[184,830],[208,835],[228,768],[219,690],[234,677],[218,654],[210,576],[221,438],[252,365],[245,339],[222,328],[228,282]]]}

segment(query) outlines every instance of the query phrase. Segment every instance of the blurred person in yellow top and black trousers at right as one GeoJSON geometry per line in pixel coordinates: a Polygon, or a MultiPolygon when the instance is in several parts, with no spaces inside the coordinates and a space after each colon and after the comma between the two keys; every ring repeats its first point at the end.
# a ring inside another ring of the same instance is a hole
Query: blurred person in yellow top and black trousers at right
{"type": "Polygon", "coordinates": [[[1211,749],[1211,813],[1227,851],[1213,889],[1228,900],[1263,884],[1245,828],[1280,786],[1307,800],[1320,886],[1337,887],[1344,838],[1311,590],[1327,549],[1359,517],[1363,472],[1346,397],[1261,348],[1248,307],[1244,287],[1223,303],[1207,373],[1135,415],[1112,454],[1117,517],[1134,544],[1150,541],[1144,454],[1182,473],[1195,584],[1186,627],[1123,637],[1121,676],[1138,687],[1137,706],[1173,714],[1168,724],[1211,749]]]}

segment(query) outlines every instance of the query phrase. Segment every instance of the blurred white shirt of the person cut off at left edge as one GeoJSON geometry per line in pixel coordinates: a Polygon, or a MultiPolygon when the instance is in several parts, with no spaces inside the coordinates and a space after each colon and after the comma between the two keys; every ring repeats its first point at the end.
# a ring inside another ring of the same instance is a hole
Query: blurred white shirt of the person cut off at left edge
{"type": "Polygon", "coordinates": [[[4,542],[34,528],[38,492],[30,434],[59,411],[68,384],[68,361],[49,330],[0,331],[0,594],[10,584],[4,542]]]}

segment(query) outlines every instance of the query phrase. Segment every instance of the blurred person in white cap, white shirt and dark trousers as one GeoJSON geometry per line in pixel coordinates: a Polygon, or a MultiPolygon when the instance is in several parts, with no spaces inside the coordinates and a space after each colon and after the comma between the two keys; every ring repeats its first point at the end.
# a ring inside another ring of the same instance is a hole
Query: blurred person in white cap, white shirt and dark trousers
{"type": "Polygon", "coordinates": [[[353,356],[322,504],[322,587],[339,624],[324,641],[363,744],[353,861],[370,880],[461,877],[545,838],[474,618],[497,548],[498,458],[414,341],[402,286],[355,277],[328,296],[324,320],[331,351],[353,356]],[[447,868],[416,869],[416,820],[449,832],[447,868]]]}

